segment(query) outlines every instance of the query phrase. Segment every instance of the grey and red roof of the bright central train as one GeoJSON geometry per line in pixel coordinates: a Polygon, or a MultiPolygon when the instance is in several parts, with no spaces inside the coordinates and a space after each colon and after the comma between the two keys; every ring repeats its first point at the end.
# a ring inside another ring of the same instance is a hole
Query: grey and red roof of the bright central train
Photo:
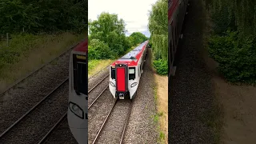
{"type": "Polygon", "coordinates": [[[116,62],[113,62],[111,66],[115,64],[126,63],[128,66],[137,66],[138,59],[142,56],[142,51],[146,49],[146,42],[142,42],[139,46],[135,47],[134,50],[131,50],[129,53],[125,54],[119,58],[116,62]]]}

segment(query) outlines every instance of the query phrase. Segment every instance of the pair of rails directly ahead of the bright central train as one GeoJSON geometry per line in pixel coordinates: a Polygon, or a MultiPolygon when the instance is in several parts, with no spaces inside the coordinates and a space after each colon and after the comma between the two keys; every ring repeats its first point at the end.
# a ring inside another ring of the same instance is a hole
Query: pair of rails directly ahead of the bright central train
{"type": "MultiPolygon", "coordinates": [[[[106,125],[107,120],[110,118],[110,114],[111,114],[111,112],[114,110],[114,106],[116,106],[117,102],[118,102],[118,98],[116,98],[116,100],[114,101],[114,105],[111,107],[110,112],[107,114],[107,116],[106,116],[106,118],[105,118],[105,120],[104,120],[104,122],[103,122],[103,124],[102,124],[102,127],[100,128],[100,130],[98,130],[98,134],[97,134],[96,137],[94,138],[94,142],[93,142],[92,144],[94,144],[95,142],[97,142],[98,136],[99,136],[99,134],[101,134],[103,127],[106,125]]],[[[124,134],[125,134],[125,132],[126,132],[126,125],[127,125],[128,121],[129,121],[129,119],[130,119],[130,111],[131,111],[131,108],[132,108],[132,101],[130,102],[130,109],[129,109],[128,115],[126,116],[126,123],[125,123],[125,125],[124,125],[124,127],[123,127],[123,130],[122,130],[122,137],[121,137],[121,139],[120,139],[119,144],[122,144],[122,140],[123,140],[124,134]]]]}

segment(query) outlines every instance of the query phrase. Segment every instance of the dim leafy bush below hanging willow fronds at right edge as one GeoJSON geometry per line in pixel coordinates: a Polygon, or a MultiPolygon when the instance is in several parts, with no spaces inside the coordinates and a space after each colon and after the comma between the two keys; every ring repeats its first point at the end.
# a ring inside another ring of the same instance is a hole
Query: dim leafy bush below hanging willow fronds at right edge
{"type": "Polygon", "coordinates": [[[219,63],[218,70],[230,82],[256,82],[256,39],[238,41],[238,32],[210,38],[209,54],[219,63]]]}

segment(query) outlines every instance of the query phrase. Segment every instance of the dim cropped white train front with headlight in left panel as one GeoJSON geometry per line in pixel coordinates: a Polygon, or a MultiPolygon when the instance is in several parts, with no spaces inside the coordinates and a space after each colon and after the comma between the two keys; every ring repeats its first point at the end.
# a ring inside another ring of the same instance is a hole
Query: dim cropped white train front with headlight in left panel
{"type": "Polygon", "coordinates": [[[88,143],[88,41],[80,42],[70,54],[67,119],[79,144],[88,143]]]}

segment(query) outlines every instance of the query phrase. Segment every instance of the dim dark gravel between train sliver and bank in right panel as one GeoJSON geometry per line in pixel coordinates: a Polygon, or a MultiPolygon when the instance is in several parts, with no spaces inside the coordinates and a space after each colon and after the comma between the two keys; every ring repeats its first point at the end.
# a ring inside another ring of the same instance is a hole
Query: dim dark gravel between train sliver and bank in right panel
{"type": "Polygon", "coordinates": [[[169,143],[214,143],[204,118],[213,109],[211,75],[202,58],[201,1],[190,0],[176,74],[169,82],[169,143]]]}

